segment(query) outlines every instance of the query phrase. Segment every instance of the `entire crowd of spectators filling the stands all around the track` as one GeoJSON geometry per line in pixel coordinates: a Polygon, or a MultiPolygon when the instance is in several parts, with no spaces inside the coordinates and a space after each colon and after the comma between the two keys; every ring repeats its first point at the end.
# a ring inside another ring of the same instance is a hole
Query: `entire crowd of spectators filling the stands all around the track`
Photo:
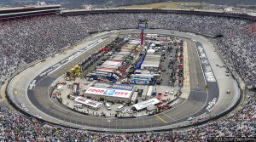
{"type": "MultiPolygon", "coordinates": [[[[137,28],[137,21],[148,20],[148,28],[173,29],[215,39],[218,51],[243,78],[248,88],[256,84],[256,41],[244,32],[253,20],[199,14],[84,14],[42,15],[22,20],[0,22],[0,82],[8,79],[20,66],[44,59],[62,48],[78,43],[93,31],[137,28]]],[[[0,107],[0,139],[83,140],[95,141],[167,141],[201,140],[211,136],[254,136],[255,93],[235,113],[199,127],[161,133],[113,134],[92,133],[71,128],[44,126],[33,118],[0,107]]]]}

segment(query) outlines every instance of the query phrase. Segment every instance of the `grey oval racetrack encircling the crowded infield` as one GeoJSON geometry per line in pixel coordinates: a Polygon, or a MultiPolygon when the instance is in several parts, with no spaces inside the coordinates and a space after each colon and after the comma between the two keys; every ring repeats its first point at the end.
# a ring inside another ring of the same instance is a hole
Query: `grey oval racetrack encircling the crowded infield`
{"type": "MultiPolygon", "coordinates": [[[[120,34],[139,33],[138,30],[121,31],[120,34]]],[[[110,43],[116,36],[113,31],[103,32],[94,37],[88,37],[85,43],[77,48],[67,51],[67,54],[59,54],[55,57],[40,62],[37,65],[20,72],[9,82],[8,93],[10,99],[20,107],[25,104],[29,113],[40,115],[49,122],[84,128],[98,131],[153,131],[168,128],[177,128],[180,125],[188,125],[186,120],[189,116],[200,116],[207,111],[208,103],[212,99],[218,99],[213,106],[212,114],[218,115],[225,111],[230,105],[235,94],[239,94],[236,82],[232,77],[225,77],[224,69],[216,66],[224,64],[218,54],[214,52],[212,43],[207,38],[199,37],[191,33],[169,30],[146,30],[146,33],[159,33],[183,37],[188,43],[189,73],[190,73],[190,94],[188,99],[177,99],[177,105],[171,110],[164,111],[154,116],[144,116],[137,118],[102,118],[95,116],[85,116],[72,111],[61,105],[55,99],[49,99],[49,85],[60,77],[74,64],[83,60],[84,57],[94,53],[103,44],[110,43]],[[207,54],[208,64],[202,63],[197,52],[203,48],[207,54]],[[192,58],[193,57],[193,58],[192,58]],[[203,71],[211,65],[216,82],[207,81],[208,89],[205,89],[205,79],[203,71]],[[14,95],[16,89],[19,94],[14,95]],[[232,93],[227,95],[225,91],[230,89],[232,93]]],[[[207,116],[212,114],[205,114],[207,116]]]]}

